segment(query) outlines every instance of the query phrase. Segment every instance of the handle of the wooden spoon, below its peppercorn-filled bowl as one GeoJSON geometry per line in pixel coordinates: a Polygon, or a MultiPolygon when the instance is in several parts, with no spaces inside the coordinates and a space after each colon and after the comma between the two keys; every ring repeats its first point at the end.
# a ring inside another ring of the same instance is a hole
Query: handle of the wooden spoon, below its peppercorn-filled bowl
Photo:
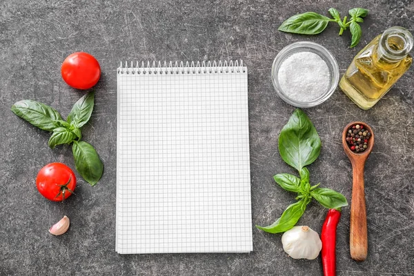
{"type": "Polygon", "coordinates": [[[364,163],[353,164],[353,189],[351,201],[351,226],[349,246],[351,257],[362,262],[368,254],[368,230],[364,193],[364,163]]]}

